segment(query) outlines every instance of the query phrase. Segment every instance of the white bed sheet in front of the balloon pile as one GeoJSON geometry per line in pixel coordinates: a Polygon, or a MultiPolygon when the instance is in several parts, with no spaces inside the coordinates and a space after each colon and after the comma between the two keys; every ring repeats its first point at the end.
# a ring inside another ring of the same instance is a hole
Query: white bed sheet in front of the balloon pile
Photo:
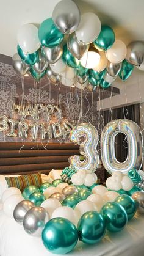
{"type": "MultiPolygon", "coordinates": [[[[0,255],[1,256],[48,256],[41,238],[33,238],[24,232],[23,226],[8,218],[0,205],[0,255]]],[[[107,232],[95,246],[79,242],[73,256],[143,256],[144,255],[144,218],[135,216],[127,227],[119,233],[107,232]]]]}

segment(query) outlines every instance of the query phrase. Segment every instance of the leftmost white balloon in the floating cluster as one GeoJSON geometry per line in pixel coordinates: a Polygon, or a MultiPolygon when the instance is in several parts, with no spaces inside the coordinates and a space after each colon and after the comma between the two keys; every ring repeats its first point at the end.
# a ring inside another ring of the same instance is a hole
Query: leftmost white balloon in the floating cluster
{"type": "Polygon", "coordinates": [[[40,48],[38,28],[33,24],[24,24],[18,30],[18,45],[25,53],[34,53],[40,48]]]}

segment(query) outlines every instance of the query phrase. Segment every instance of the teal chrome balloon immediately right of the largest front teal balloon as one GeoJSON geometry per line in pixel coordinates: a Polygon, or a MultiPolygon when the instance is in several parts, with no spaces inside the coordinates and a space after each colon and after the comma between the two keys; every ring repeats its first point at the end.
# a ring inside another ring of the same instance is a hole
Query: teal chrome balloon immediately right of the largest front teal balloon
{"type": "Polygon", "coordinates": [[[101,214],[96,211],[87,211],[79,219],[77,225],[79,240],[86,244],[99,242],[106,233],[106,222],[101,214]]]}

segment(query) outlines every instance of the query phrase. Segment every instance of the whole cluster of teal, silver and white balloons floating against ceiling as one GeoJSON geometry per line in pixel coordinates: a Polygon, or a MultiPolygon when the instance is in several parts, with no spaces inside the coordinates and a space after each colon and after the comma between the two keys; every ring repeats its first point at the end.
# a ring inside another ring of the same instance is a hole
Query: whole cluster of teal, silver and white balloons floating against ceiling
{"type": "Polygon", "coordinates": [[[39,29],[24,24],[17,39],[15,70],[22,76],[30,72],[35,79],[46,75],[54,84],[107,88],[117,76],[128,79],[134,65],[144,70],[144,42],[132,42],[127,49],[111,27],[101,26],[95,13],[81,15],[72,0],[60,1],[39,29]]]}

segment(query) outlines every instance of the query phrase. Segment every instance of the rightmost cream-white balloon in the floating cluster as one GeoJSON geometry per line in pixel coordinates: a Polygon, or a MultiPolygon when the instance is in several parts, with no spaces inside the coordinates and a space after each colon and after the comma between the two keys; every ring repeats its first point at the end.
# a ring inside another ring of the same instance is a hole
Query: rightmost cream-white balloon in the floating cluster
{"type": "Polygon", "coordinates": [[[106,51],[107,59],[112,63],[119,63],[126,57],[127,48],[121,40],[115,40],[113,46],[106,51]]]}

